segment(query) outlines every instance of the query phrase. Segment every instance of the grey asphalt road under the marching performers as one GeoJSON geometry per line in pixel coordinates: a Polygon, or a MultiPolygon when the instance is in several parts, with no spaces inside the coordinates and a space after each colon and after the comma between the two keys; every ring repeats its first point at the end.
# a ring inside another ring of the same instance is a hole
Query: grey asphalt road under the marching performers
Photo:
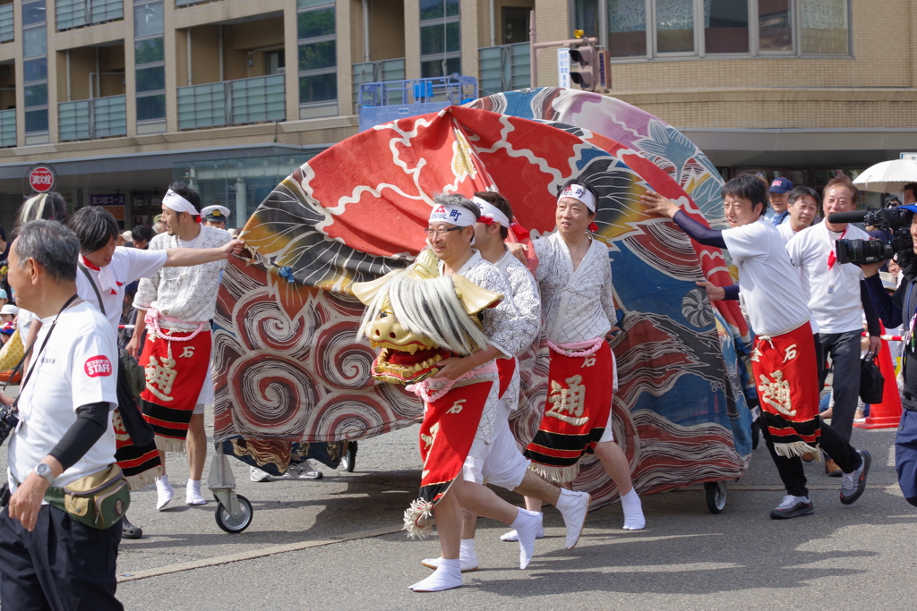
{"type": "MultiPolygon", "coordinates": [[[[699,486],[643,499],[647,528],[621,529],[619,505],[590,514],[580,544],[563,549],[552,507],[547,537],[525,571],[502,524],[481,520],[481,570],[438,594],[407,589],[429,573],[436,538],[399,533],[419,481],[415,427],[360,442],[355,473],[323,467],[319,481],[249,481],[232,461],[251,527],[227,535],[215,503],[186,507],[183,455],[171,454],[171,507],[155,510],[151,486],[128,515],[145,529],[121,545],[118,598],[125,608],[180,609],[912,609],[917,607],[917,509],[904,502],[892,466],[894,431],[854,432],[873,453],[870,489],[855,505],[840,481],[807,466],[815,515],[772,520],[783,493],[763,444],[711,514],[699,486]]],[[[6,457],[6,453],[4,458],[6,457]]],[[[511,502],[517,502],[507,494],[511,502]]]]}

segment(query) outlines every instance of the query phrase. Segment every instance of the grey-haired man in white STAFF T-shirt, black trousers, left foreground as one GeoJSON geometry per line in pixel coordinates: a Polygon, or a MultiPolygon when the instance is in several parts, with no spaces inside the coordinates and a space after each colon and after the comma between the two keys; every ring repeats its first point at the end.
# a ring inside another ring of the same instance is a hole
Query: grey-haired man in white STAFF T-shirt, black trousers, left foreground
{"type": "MultiPolygon", "coordinates": [[[[50,486],[60,493],[115,462],[115,336],[94,305],[76,294],[79,254],[76,235],[51,221],[23,224],[10,252],[10,284],[44,324],[19,389],[19,425],[7,450],[13,495],[0,513],[4,611],[123,609],[115,598],[120,519],[94,528],[49,505],[53,499],[46,496],[50,486]]],[[[118,503],[109,518],[127,510],[118,503]]]]}

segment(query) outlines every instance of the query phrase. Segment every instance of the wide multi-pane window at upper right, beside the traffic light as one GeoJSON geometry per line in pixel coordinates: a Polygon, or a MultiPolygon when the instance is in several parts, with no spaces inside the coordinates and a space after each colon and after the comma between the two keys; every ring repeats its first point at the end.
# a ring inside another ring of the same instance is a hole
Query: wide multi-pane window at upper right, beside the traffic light
{"type": "Polygon", "coordinates": [[[621,60],[851,53],[849,0],[574,0],[572,21],[621,60]]]}

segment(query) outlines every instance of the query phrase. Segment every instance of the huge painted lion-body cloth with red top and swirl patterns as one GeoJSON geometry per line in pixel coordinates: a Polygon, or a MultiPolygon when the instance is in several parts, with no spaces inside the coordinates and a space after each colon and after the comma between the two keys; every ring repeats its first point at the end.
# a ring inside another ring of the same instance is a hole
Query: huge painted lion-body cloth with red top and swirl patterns
{"type": "MultiPolygon", "coordinates": [[[[379,125],[311,159],[246,224],[253,258],[226,268],[215,317],[216,441],[283,470],[291,444],[334,458],[338,441],[414,423],[416,398],[369,376],[373,355],[356,333],[362,306],[350,285],[413,260],[436,192],[498,189],[543,235],[554,228],[558,186],[582,177],[600,191],[598,236],[611,248],[624,313],[613,346],[614,432],[636,488],[741,475],[749,452],[734,431],[747,431],[748,413],[735,361],[721,352],[722,324],[694,286],[704,278],[702,254],[639,203],[647,189],[684,191],[641,161],[605,136],[456,107],[379,125]]],[[[704,222],[696,208],[688,213],[704,222]]],[[[520,362],[521,438],[544,405],[546,355],[534,346],[520,362]]],[[[599,505],[616,496],[595,461],[576,486],[599,505]]]]}

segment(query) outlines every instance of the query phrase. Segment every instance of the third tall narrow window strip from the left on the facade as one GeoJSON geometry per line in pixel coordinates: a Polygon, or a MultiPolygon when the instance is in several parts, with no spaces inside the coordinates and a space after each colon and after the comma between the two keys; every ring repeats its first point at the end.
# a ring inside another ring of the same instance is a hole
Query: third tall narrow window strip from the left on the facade
{"type": "MultiPolygon", "coordinates": [[[[337,107],[335,5],[328,0],[298,0],[297,10],[299,105],[337,107]]],[[[327,115],[322,112],[318,115],[323,114],[327,115]]],[[[302,111],[300,115],[318,116],[303,115],[302,111]]]]}

